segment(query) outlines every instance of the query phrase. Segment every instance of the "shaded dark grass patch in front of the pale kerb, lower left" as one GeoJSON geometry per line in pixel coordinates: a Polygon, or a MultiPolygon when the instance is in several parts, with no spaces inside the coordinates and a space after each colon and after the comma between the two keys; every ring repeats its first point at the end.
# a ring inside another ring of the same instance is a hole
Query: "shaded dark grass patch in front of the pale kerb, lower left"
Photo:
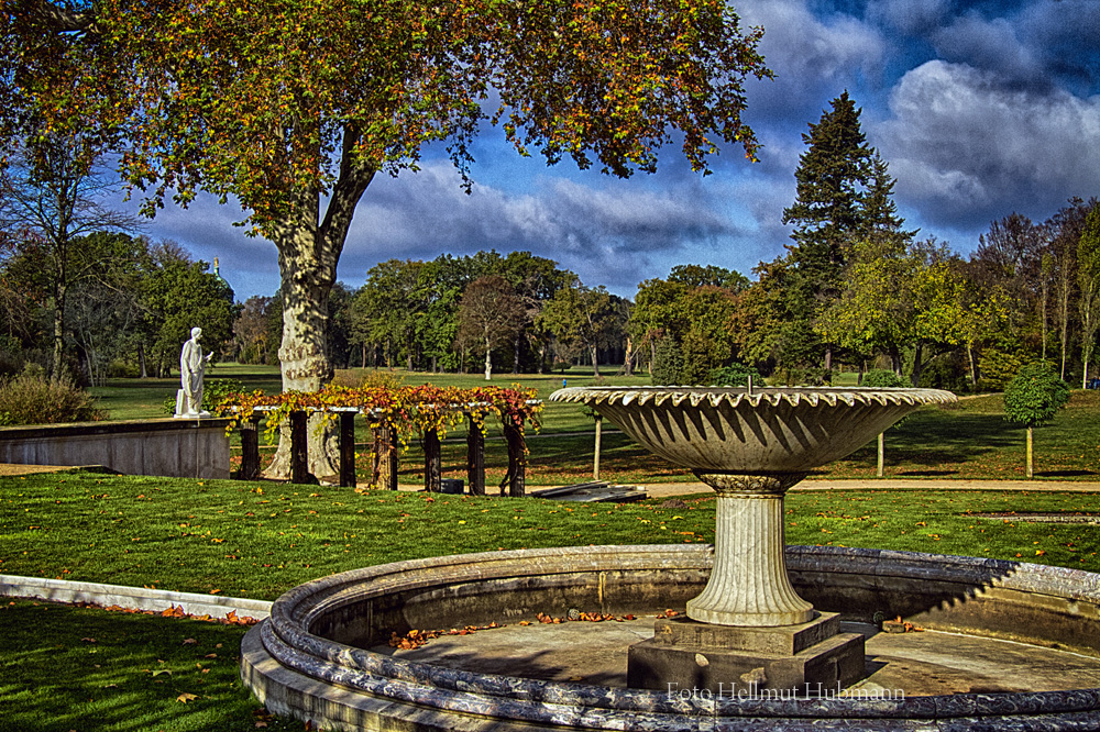
{"type": "Polygon", "coordinates": [[[302,730],[238,676],[246,628],[29,600],[0,603],[0,730],[302,730]]]}

